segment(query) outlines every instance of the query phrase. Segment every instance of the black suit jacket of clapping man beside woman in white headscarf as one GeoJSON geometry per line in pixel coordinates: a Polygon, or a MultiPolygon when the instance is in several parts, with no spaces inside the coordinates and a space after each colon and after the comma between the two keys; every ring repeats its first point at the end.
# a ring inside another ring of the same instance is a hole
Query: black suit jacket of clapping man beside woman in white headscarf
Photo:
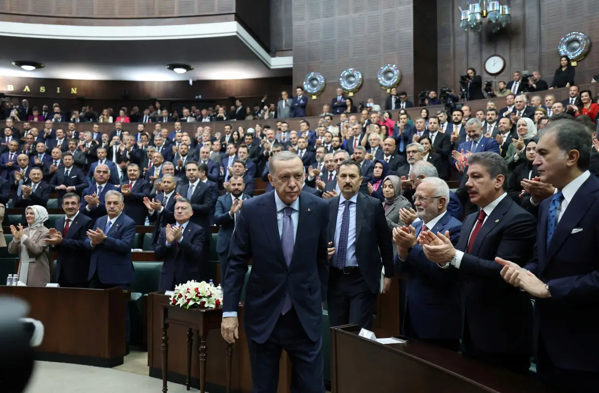
{"type": "MultiPolygon", "coordinates": [[[[75,220],[69,223],[69,229],[62,237],[62,242],[52,246],[56,251],[55,282],[64,274],[69,283],[84,283],[89,273],[90,252],[83,247],[87,239],[87,229],[91,229],[93,220],[84,214],[77,214],[75,220]]],[[[65,216],[56,220],[54,228],[62,234],[65,228],[65,216]]]]}

